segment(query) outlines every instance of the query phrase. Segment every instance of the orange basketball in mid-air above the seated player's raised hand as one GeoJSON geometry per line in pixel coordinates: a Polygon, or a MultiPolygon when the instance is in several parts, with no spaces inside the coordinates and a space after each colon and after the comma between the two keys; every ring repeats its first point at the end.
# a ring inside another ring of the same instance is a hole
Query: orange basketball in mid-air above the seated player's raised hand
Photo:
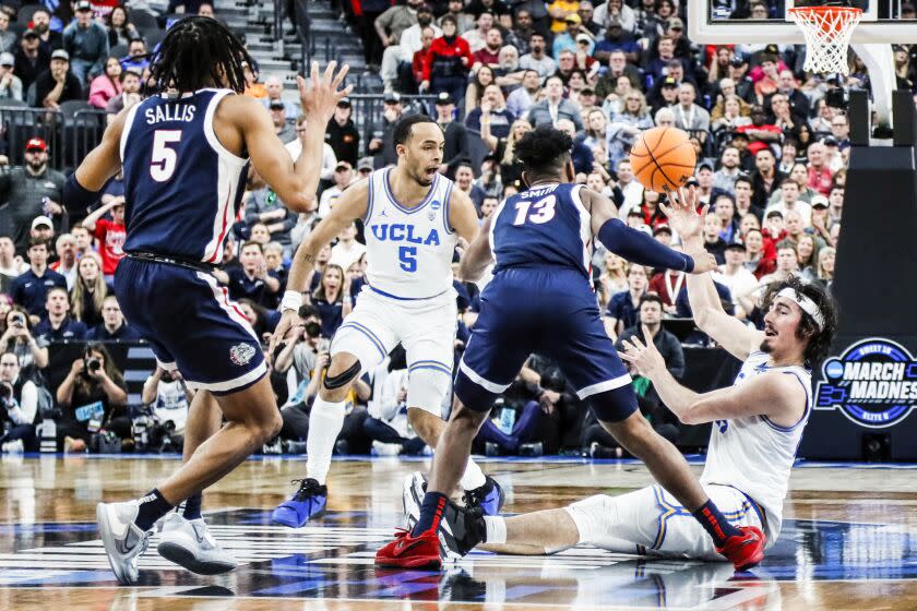
{"type": "Polygon", "coordinates": [[[688,134],[677,128],[653,128],[641,133],[630,158],[636,180],[659,193],[684,184],[698,163],[688,134]]]}

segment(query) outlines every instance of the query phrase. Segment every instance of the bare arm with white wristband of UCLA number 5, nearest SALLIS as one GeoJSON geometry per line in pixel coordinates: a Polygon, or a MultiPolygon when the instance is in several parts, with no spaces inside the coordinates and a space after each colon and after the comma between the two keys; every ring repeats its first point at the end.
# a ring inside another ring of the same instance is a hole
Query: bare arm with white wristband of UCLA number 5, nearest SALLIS
{"type": "MultiPolygon", "coordinates": [[[[293,256],[293,266],[287,278],[287,295],[301,293],[306,290],[306,280],[315,263],[319,251],[353,221],[366,216],[368,199],[369,179],[352,184],[341,194],[331,213],[312,229],[312,232],[296,249],[296,254],[293,256]]],[[[274,354],[274,347],[283,340],[297,316],[298,306],[294,307],[286,302],[286,296],[284,296],[284,302],[281,304],[283,315],[281,322],[277,323],[274,335],[271,337],[270,354],[274,354]]]]}

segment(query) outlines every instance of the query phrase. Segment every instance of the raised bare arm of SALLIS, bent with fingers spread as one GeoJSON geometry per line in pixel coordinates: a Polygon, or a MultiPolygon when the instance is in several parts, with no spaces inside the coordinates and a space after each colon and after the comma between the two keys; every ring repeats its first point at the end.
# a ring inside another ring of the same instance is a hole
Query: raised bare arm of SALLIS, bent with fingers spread
{"type": "Polygon", "coordinates": [[[337,101],[353,88],[340,88],[349,67],[345,64],[337,74],[335,68],[336,63],[332,61],[320,75],[318,62],[312,62],[309,81],[297,77],[302,112],[309,121],[302,154],[296,163],[274,133],[270,115],[257,99],[231,96],[219,105],[214,117],[215,130],[223,145],[230,151],[247,148],[254,169],[294,212],[310,212],[318,205],[315,192],[325,127],[334,116],[337,101]]]}

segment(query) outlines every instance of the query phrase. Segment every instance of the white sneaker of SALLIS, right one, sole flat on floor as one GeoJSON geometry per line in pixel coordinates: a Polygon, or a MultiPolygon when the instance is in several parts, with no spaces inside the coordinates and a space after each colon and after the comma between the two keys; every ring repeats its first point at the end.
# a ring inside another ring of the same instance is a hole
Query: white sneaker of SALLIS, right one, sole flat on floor
{"type": "Polygon", "coordinates": [[[156,551],[199,575],[219,575],[238,565],[210,534],[204,518],[184,519],[178,512],[170,512],[163,520],[156,551]]]}

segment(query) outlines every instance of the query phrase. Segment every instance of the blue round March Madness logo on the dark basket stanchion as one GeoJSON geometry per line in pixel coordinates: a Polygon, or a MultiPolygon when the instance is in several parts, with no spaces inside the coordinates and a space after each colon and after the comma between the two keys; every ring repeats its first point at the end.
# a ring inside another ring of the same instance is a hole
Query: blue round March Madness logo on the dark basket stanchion
{"type": "Polygon", "coordinates": [[[822,372],[814,409],[839,409],[857,424],[882,429],[917,407],[917,360],[891,339],[861,339],[827,359],[822,372]]]}

